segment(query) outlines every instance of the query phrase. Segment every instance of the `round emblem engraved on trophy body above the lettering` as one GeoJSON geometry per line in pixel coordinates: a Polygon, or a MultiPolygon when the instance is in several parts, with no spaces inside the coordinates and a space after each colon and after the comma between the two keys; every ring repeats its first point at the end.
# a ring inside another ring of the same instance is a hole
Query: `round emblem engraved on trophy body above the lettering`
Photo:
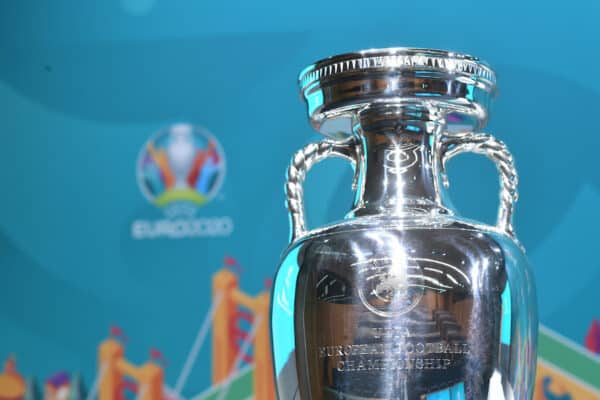
{"type": "Polygon", "coordinates": [[[356,265],[364,277],[358,290],[363,305],[382,317],[396,317],[414,309],[423,298],[423,271],[415,260],[390,258],[356,265]]]}

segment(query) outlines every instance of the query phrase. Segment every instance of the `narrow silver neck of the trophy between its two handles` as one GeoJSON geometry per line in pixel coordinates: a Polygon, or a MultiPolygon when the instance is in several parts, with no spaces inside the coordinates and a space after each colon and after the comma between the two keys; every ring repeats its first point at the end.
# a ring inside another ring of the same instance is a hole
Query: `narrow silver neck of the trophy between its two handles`
{"type": "Polygon", "coordinates": [[[440,177],[444,116],[426,105],[370,106],[357,114],[359,186],[351,216],[448,213],[440,177]]]}

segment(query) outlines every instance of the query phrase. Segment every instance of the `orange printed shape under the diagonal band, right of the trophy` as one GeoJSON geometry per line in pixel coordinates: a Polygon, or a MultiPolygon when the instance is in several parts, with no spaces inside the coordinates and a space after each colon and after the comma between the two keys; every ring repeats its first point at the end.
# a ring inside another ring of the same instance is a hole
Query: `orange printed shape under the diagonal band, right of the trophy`
{"type": "Polygon", "coordinates": [[[600,393],[543,360],[538,361],[534,400],[600,400],[600,393]]]}

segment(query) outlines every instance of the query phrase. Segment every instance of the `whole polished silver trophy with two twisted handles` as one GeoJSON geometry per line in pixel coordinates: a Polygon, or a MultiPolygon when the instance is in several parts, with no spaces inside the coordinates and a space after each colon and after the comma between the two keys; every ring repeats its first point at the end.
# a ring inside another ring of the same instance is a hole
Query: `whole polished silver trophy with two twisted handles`
{"type": "Polygon", "coordinates": [[[494,72],[462,54],[393,48],[317,62],[300,86],[329,138],[288,169],[292,237],[272,309],[278,398],[531,399],[537,311],[511,222],[517,174],[506,146],[477,132],[494,72]],[[446,162],[464,152],[498,168],[495,226],[448,199],[446,162]],[[331,156],[355,168],[353,206],[308,231],[302,184],[331,156]]]}

